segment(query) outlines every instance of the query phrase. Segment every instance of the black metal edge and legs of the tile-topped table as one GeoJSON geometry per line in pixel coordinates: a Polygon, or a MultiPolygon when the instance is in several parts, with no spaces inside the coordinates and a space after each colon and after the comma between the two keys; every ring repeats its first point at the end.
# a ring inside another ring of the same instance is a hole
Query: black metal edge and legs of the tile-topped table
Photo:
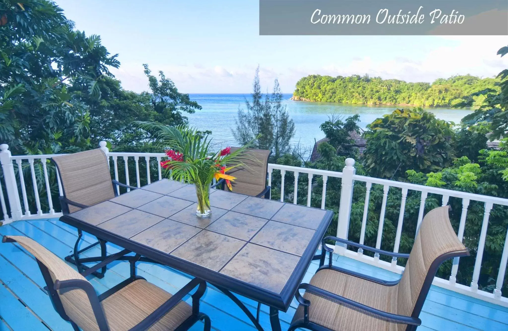
{"type": "Polygon", "coordinates": [[[324,237],[328,226],[333,218],[333,212],[327,210],[325,216],[323,217],[319,227],[314,232],[309,244],[305,248],[300,260],[298,261],[295,269],[293,270],[291,276],[288,281],[285,283],[280,295],[276,295],[276,293],[266,290],[264,288],[258,287],[256,285],[252,285],[246,282],[243,282],[239,279],[220,274],[216,271],[210,270],[198,264],[177,258],[176,256],[170,255],[163,251],[145,246],[140,244],[134,240],[129,238],[125,238],[114,233],[111,233],[107,230],[99,228],[98,226],[91,225],[89,223],[83,222],[82,220],[76,219],[69,215],[63,215],[60,217],[60,220],[63,223],[66,223],[70,226],[73,226],[77,229],[80,229],[84,232],[87,232],[91,235],[96,236],[102,240],[111,242],[115,245],[123,247],[125,249],[129,249],[130,251],[135,252],[136,254],[140,254],[147,258],[147,260],[151,260],[155,263],[166,265],[186,274],[199,277],[200,279],[205,280],[206,282],[214,285],[220,291],[224,292],[230,299],[232,299],[235,304],[237,304],[242,311],[247,315],[247,317],[254,323],[256,328],[259,331],[263,331],[263,328],[259,324],[259,309],[258,305],[258,316],[254,317],[250,311],[243,305],[243,303],[236,298],[233,293],[238,293],[241,296],[247,297],[251,300],[259,302],[261,304],[267,305],[270,307],[270,323],[273,331],[280,331],[280,321],[278,318],[279,310],[287,311],[293,297],[295,296],[296,291],[298,290],[298,286],[300,285],[305,272],[307,271],[308,266],[310,265],[312,260],[321,259],[322,255],[315,255],[315,251],[317,247],[319,247],[321,243],[321,239],[324,237]]]}

